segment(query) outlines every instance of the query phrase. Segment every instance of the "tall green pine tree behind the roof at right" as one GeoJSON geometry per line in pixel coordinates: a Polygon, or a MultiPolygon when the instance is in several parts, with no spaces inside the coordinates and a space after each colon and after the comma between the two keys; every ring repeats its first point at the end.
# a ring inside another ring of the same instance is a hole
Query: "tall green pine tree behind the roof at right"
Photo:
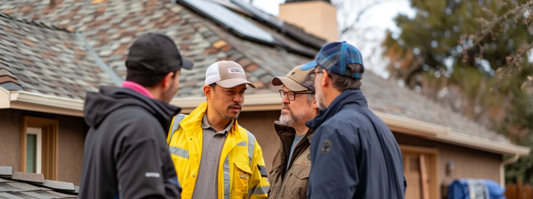
{"type": "MultiPolygon", "coordinates": [[[[532,4],[411,0],[415,18],[398,15],[401,33],[383,42],[391,77],[533,147],[532,4]]],[[[533,183],[532,167],[530,154],[506,168],[506,179],[533,183]]]]}

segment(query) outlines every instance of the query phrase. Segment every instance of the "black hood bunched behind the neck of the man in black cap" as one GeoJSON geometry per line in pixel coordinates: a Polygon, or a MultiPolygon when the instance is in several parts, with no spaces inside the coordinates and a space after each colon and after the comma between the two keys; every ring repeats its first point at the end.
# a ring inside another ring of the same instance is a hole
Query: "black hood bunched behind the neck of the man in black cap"
{"type": "Polygon", "coordinates": [[[127,106],[146,109],[163,127],[169,127],[172,117],[181,111],[179,107],[143,96],[132,89],[100,86],[98,93],[87,92],[83,111],[85,123],[91,127],[98,127],[110,113],[127,106]]]}

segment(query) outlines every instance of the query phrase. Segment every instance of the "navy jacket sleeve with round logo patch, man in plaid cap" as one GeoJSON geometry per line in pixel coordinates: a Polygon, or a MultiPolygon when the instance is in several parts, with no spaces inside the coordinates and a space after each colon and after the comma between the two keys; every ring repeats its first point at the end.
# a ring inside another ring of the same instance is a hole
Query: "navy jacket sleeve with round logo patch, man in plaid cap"
{"type": "Polygon", "coordinates": [[[314,132],[308,198],[352,198],[359,183],[354,149],[337,128],[320,126],[314,132]]]}

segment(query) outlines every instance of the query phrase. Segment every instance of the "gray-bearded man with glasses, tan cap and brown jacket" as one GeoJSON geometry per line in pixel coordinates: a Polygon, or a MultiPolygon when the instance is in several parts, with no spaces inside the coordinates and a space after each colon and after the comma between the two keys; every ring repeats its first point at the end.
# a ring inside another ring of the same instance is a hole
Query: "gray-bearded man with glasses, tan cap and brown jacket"
{"type": "Polygon", "coordinates": [[[311,168],[308,137],[314,131],[305,122],[318,114],[310,72],[297,66],[286,76],[272,79],[272,85],[283,85],[279,90],[283,105],[279,121],[274,123],[281,144],[270,171],[270,199],[303,198],[307,193],[311,168]]]}

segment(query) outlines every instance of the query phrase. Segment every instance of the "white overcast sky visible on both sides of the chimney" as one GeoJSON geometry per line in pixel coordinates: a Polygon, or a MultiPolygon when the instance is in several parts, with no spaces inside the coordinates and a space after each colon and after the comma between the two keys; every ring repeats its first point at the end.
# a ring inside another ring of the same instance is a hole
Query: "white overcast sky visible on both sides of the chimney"
{"type": "MultiPolygon", "coordinates": [[[[248,1],[249,0],[245,0],[248,1]]],[[[343,0],[337,0],[337,1],[343,1],[343,0]]],[[[344,0],[344,1],[354,1],[352,4],[354,4],[354,10],[357,10],[359,7],[364,7],[365,4],[367,4],[370,1],[380,1],[380,0],[344,0]]],[[[386,1],[386,0],[385,0],[386,1]]],[[[253,0],[253,5],[257,8],[260,8],[261,10],[273,14],[278,15],[279,13],[279,4],[285,3],[285,0],[253,0]]],[[[405,13],[408,16],[413,17],[415,15],[415,11],[410,8],[410,1],[408,0],[389,0],[385,3],[379,4],[375,7],[373,7],[371,10],[367,12],[367,14],[364,15],[364,17],[361,20],[361,28],[365,28],[367,26],[373,26],[377,27],[380,30],[376,32],[376,38],[381,38],[378,40],[383,40],[385,38],[385,30],[392,30],[393,32],[399,33],[399,28],[395,25],[393,19],[395,16],[397,16],[399,13],[405,13]]],[[[342,19],[337,19],[341,21],[342,19]]],[[[350,44],[356,46],[357,48],[360,48],[361,53],[365,55],[365,50],[368,50],[368,46],[372,46],[374,48],[379,46],[379,42],[372,42],[369,44],[366,41],[360,41],[360,40],[348,40],[350,44]],[[365,43],[366,42],[366,43],[365,43]],[[360,46],[365,43],[365,48],[362,49],[360,46]]],[[[368,59],[372,59],[372,62],[370,60],[365,60],[365,68],[369,68],[374,73],[383,76],[388,77],[388,73],[384,71],[385,62],[382,61],[382,57],[380,53],[375,53],[375,55],[372,55],[372,57],[369,57],[368,59]],[[372,65],[369,65],[367,63],[373,63],[372,65]]]]}

